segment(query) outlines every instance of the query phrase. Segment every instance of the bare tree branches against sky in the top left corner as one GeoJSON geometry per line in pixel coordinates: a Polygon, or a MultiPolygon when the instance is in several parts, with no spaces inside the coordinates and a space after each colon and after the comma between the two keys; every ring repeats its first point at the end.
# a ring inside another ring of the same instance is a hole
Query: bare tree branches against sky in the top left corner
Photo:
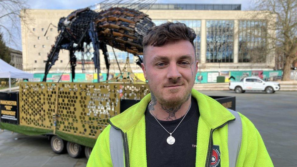
{"type": "Polygon", "coordinates": [[[18,45],[20,38],[16,39],[16,36],[20,35],[20,23],[27,23],[28,20],[20,16],[20,11],[26,8],[26,0],[0,0],[0,28],[7,44],[18,45]]]}

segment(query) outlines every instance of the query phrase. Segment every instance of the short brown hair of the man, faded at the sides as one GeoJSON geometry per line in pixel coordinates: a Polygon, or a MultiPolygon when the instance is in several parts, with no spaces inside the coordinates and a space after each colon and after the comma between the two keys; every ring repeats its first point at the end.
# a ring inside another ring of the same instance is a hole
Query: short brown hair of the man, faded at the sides
{"type": "Polygon", "coordinates": [[[195,60],[196,60],[196,49],[194,45],[194,39],[196,33],[193,29],[187,27],[184,23],[172,23],[167,22],[159,26],[155,26],[146,32],[146,36],[142,40],[143,56],[145,57],[145,49],[147,46],[162,46],[170,41],[175,40],[187,40],[192,43],[194,47],[195,60]]]}

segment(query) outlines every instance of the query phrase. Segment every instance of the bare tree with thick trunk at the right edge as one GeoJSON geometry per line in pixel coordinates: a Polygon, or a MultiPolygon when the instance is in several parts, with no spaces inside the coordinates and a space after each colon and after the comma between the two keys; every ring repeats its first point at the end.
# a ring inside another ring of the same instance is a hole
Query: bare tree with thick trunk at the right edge
{"type": "Polygon", "coordinates": [[[297,1],[296,0],[256,0],[253,10],[265,14],[268,23],[268,50],[278,50],[285,57],[283,81],[290,80],[291,65],[297,60],[297,1]]]}

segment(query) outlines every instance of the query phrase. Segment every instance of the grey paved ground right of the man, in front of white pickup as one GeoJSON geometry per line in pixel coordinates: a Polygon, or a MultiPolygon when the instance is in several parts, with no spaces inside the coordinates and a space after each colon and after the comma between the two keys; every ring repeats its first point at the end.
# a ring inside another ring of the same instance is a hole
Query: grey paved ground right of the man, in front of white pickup
{"type": "Polygon", "coordinates": [[[236,111],[260,132],[274,166],[297,166],[297,92],[200,91],[213,96],[236,96],[236,111]]]}

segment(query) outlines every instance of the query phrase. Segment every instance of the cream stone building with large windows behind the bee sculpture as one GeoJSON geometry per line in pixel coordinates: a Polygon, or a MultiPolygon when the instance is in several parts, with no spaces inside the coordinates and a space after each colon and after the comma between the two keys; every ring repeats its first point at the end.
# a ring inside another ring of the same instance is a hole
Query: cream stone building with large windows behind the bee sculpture
{"type": "MultiPolygon", "coordinates": [[[[100,6],[97,7],[100,10],[100,6]]],[[[101,9],[104,7],[101,6],[101,9]]],[[[47,60],[47,53],[58,35],[58,21],[68,16],[73,10],[42,10],[29,9],[22,11],[23,16],[30,17],[32,24],[22,23],[23,68],[26,71],[42,73],[47,60]],[[53,25],[51,25],[51,23],[53,25]],[[47,30],[48,28],[48,30],[47,30]],[[45,32],[47,33],[45,34],[45,32]]],[[[269,50],[269,41],[264,36],[273,35],[268,29],[275,20],[265,19],[265,15],[257,11],[241,11],[240,5],[201,5],[201,4],[154,4],[150,9],[142,9],[156,25],[169,22],[185,23],[197,34],[197,59],[200,71],[230,71],[230,70],[272,70],[275,67],[275,53],[269,50]]],[[[110,55],[110,70],[118,72],[114,53],[120,66],[123,67],[126,57],[129,57],[131,68],[141,72],[132,54],[107,48],[110,55]]],[[[93,72],[94,65],[92,46],[86,46],[84,54],[76,53],[78,65],[76,71],[93,72]],[[86,59],[85,67],[79,64],[80,59],[86,59]]],[[[103,54],[100,52],[101,72],[106,72],[103,54]]],[[[69,52],[60,51],[59,59],[50,72],[70,71],[69,52]]]]}

